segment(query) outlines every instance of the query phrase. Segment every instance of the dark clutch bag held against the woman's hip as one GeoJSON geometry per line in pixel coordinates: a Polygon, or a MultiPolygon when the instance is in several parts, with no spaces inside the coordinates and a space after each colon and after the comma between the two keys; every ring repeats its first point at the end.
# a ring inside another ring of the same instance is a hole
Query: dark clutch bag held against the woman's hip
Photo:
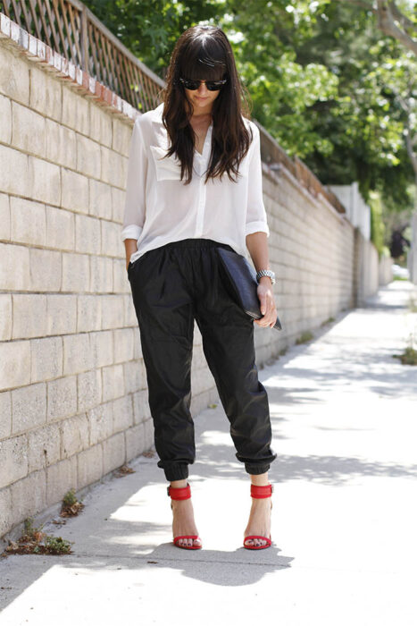
{"type": "MultiPolygon", "coordinates": [[[[254,319],[263,317],[257,293],[258,282],[254,267],[238,252],[218,247],[221,265],[229,278],[233,292],[241,308],[254,319]]],[[[282,330],[279,317],[272,328],[282,330]]]]}

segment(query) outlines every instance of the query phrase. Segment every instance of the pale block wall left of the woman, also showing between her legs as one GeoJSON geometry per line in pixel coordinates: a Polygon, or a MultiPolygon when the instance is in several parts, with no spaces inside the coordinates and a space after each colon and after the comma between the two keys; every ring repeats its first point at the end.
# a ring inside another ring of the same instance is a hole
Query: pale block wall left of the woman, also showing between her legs
{"type": "MultiPolygon", "coordinates": [[[[101,104],[0,38],[0,537],[154,443],[121,241],[133,119],[101,104]]],[[[217,399],[197,328],[192,384],[196,414],[217,399]]]]}

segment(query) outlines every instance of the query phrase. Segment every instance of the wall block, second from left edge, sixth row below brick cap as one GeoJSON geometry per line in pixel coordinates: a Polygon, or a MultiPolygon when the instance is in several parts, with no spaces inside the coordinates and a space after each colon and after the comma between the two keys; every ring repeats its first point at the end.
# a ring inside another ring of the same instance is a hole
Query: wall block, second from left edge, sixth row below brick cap
{"type": "Polygon", "coordinates": [[[46,295],[13,294],[13,339],[46,335],[46,295]]]}

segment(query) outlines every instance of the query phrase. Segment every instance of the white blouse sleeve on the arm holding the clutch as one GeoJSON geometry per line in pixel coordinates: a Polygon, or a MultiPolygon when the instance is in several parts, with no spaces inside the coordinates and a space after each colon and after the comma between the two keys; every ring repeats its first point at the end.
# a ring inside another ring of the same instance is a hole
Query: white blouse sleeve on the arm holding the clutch
{"type": "Polygon", "coordinates": [[[261,162],[261,139],[259,128],[252,124],[254,145],[249,162],[246,207],[246,235],[263,232],[270,236],[265,207],[263,205],[263,174],[261,162]]]}

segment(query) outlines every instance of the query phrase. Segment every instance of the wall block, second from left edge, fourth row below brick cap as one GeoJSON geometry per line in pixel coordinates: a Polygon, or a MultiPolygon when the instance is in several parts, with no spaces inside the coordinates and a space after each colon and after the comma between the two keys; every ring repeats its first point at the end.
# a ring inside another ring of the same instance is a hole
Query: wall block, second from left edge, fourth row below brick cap
{"type": "Polygon", "coordinates": [[[10,199],[11,238],[20,243],[46,245],[46,209],[44,204],[31,200],[10,199]]]}

